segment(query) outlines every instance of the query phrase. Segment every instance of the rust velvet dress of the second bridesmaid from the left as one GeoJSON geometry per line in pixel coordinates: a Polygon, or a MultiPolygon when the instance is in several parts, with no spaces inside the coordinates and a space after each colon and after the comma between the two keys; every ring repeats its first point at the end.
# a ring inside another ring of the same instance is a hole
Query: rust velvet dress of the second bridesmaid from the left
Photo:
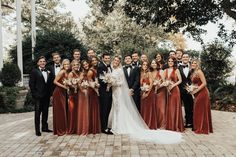
{"type": "MultiPolygon", "coordinates": [[[[73,73],[73,78],[78,78],[79,76],[73,73]]],[[[78,106],[78,89],[75,91],[74,88],[70,88],[69,103],[68,103],[68,128],[67,134],[76,133],[77,124],[77,106],[78,106]]]]}

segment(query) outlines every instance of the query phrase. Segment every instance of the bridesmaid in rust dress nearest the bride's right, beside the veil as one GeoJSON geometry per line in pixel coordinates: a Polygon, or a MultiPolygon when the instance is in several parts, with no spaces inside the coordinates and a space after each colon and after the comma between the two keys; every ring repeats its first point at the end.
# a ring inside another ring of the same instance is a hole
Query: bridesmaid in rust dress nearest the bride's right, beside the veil
{"type": "Polygon", "coordinates": [[[152,88],[153,80],[151,72],[149,71],[148,62],[144,61],[141,64],[141,105],[140,113],[150,129],[157,129],[156,122],[156,107],[155,107],[155,93],[152,88]],[[148,87],[148,88],[145,88],[148,87]]]}

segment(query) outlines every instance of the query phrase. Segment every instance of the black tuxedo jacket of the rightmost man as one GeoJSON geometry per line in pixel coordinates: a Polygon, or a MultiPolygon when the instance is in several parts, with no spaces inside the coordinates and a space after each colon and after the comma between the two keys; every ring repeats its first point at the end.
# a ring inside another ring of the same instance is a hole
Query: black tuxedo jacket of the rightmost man
{"type": "Polygon", "coordinates": [[[184,74],[184,71],[183,71],[183,66],[180,65],[178,67],[179,69],[179,72],[180,72],[180,75],[181,75],[181,78],[182,78],[182,82],[181,84],[179,84],[179,89],[180,89],[180,92],[181,93],[187,93],[187,90],[185,89],[185,87],[188,85],[191,84],[191,70],[189,69],[189,73],[188,73],[188,76],[186,77],[185,74],[184,74]]]}

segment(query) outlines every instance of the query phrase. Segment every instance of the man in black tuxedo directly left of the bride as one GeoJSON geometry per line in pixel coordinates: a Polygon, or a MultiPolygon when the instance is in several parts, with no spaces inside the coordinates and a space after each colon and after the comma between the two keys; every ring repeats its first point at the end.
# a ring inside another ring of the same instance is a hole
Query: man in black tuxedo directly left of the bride
{"type": "Polygon", "coordinates": [[[101,119],[101,129],[105,134],[112,134],[111,128],[107,128],[108,117],[111,110],[112,105],[112,90],[111,88],[107,91],[107,83],[104,83],[103,80],[100,79],[100,76],[103,75],[104,72],[111,72],[111,56],[109,53],[102,54],[102,61],[98,64],[97,67],[97,75],[98,81],[100,84],[99,87],[99,104],[100,104],[100,119],[101,119]]]}

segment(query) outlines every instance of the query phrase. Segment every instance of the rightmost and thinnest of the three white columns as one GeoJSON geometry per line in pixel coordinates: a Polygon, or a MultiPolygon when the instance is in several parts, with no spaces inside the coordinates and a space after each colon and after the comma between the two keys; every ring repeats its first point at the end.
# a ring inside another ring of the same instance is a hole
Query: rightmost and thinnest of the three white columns
{"type": "Polygon", "coordinates": [[[35,0],[31,0],[31,41],[32,41],[32,60],[34,60],[34,48],[36,45],[35,0]]]}

